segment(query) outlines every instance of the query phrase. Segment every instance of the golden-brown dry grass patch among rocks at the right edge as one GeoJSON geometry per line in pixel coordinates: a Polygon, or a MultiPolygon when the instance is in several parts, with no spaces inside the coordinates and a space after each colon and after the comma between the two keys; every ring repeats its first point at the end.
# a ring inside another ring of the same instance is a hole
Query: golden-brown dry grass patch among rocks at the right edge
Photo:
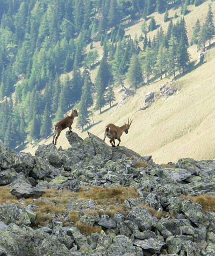
{"type": "Polygon", "coordinates": [[[192,202],[202,205],[203,211],[215,212],[215,197],[206,194],[199,196],[183,196],[182,201],[189,198],[192,202]]]}

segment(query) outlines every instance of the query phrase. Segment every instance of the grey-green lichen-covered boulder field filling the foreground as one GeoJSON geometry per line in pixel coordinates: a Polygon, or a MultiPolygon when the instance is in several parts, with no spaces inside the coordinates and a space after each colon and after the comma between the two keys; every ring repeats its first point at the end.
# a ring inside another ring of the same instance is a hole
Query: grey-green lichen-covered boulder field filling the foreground
{"type": "Polygon", "coordinates": [[[215,196],[214,160],[186,158],[162,167],[91,133],[84,140],[74,132],[66,137],[68,150],[41,145],[35,156],[10,152],[0,141],[1,189],[9,187],[19,202],[1,200],[1,255],[215,255],[215,213],[183,198],[215,196]],[[42,203],[54,207],[58,200],[43,198],[45,189],[87,193],[89,187],[135,188],[139,197],[126,198],[124,214],[100,214],[105,205],[96,198],[73,196],[61,216],[47,208],[52,220],[38,224],[42,203]],[[35,205],[23,205],[28,197],[35,205]],[[80,225],[97,232],[81,232],[69,218],[74,210],[80,225]]]}

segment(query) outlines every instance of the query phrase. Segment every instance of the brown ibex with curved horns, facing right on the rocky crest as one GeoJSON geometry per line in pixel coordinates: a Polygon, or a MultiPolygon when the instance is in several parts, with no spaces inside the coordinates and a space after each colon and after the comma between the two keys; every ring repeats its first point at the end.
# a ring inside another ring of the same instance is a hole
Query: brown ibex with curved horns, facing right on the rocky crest
{"type": "MultiPolygon", "coordinates": [[[[131,120],[132,122],[132,120],[131,120]]],[[[116,126],[114,124],[108,124],[106,127],[105,127],[105,133],[104,133],[104,139],[106,138],[106,136],[110,139],[110,144],[112,147],[115,147],[115,139],[118,139],[119,140],[119,143],[117,146],[119,146],[120,144],[120,137],[121,137],[121,134],[123,134],[123,132],[125,132],[126,134],[128,133],[128,129],[130,128],[130,125],[131,123],[129,123],[129,118],[128,118],[128,123],[124,124],[123,126],[119,127],[119,126],[116,126]]]]}

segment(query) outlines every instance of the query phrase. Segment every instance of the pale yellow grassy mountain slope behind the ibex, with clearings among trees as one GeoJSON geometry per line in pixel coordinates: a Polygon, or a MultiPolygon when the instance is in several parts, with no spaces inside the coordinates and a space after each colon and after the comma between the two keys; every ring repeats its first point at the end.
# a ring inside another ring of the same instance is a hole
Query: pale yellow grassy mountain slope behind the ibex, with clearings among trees
{"type": "MultiPolygon", "coordinates": [[[[207,5],[210,1],[198,7],[189,6],[190,12],[186,15],[188,38],[191,39],[192,27],[197,18],[200,23],[204,22],[207,13],[207,5]]],[[[215,16],[215,2],[211,2],[211,9],[215,16]]],[[[180,9],[170,10],[169,17],[173,17],[177,12],[180,18],[180,9]]],[[[168,23],[163,23],[163,14],[155,16],[156,24],[161,25],[166,31],[168,23]]],[[[173,20],[175,22],[175,19],[173,20]]],[[[149,22],[149,20],[147,21],[149,22]]],[[[135,25],[126,29],[126,34],[135,34],[139,37],[141,33],[142,19],[135,25]]],[[[150,32],[151,38],[156,31],[150,32]]],[[[96,48],[96,47],[95,47],[96,48]]],[[[94,49],[95,49],[94,48],[94,49]]],[[[102,48],[98,46],[98,51],[102,48]]],[[[196,61],[198,53],[196,46],[189,48],[191,61],[196,61]]],[[[116,88],[116,104],[111,109],[103,109],[99,115],[95,112],[94,122],[89,131],[103,138],[104,127],[107,123],[123,125],[127,118],[132,119],[132,125],[128,134],[121,137],[121,146],[131,148],[141,155],[152,154],[157,163],[176,162],[179,158],[190,157],[196,160],[215,158],[215,47],[212,45],[207,49],[204,63],[192,70],[192,72],[174,81],[177,94],[170,96],[166,101],[157,97],[155,102],[146,110],[138,111],[144,104],[145,95],[149,91],[159,94],[160,87],[171,79],[154,81],[150,86],[145,86],[137,90],[134,96],[130,96],[124,105],[119,103],[123,92],[116,88]]],[[[92,72],[92,80],[95,79],[96,70],[92,72]]],[[[128,84],[127,84],[128,86],[128,84]]],[[[73,124],[73,131],[82,138],[87,137],[87,131],[81,133],[76,127],[76,120],[73,124]]],[[[65,137],[67,129],[64,130],[58,140],[58,147],[69,147],[65,137]]],[[[41,141],[40,144],[52,143],[52,137],[41,141]]],[[[109,144],[106,138],[106,143],[109,144]]],[[[25,152],[34,153],[37,146],[28,145],[25,152]]]]}

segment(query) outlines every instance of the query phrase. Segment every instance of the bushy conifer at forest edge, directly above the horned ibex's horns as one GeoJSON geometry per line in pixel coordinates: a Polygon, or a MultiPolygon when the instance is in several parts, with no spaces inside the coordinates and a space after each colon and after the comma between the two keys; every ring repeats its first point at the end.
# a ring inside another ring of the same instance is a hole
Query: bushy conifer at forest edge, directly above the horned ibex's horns
{"type": "Polygon", "coordinates": [[[142,70],[137,54],[132,55],[127,80],[130,83],[130,87],[134,87],[134,89],[137,89],[138,86],[142,84],[142,70]]]}

